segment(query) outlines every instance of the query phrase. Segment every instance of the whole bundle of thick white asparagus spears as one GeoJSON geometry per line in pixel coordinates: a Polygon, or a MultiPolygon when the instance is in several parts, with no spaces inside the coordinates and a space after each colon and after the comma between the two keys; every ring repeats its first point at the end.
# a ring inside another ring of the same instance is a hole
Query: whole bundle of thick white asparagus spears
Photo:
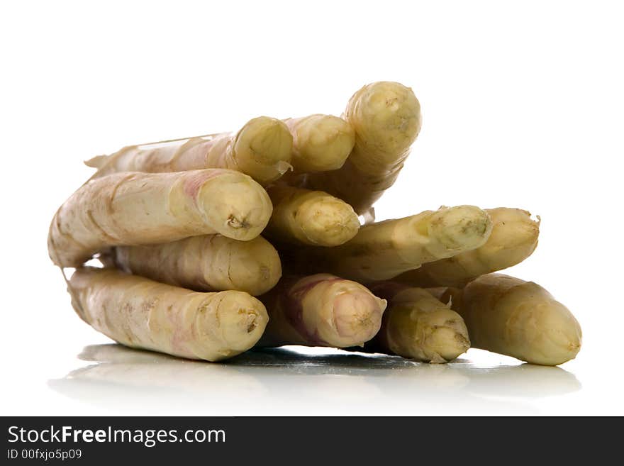
{"type": "Polygon", "coordinates": [[[50,257],[75,269],[69,294],[89,325],[179,357],[320,345],[442,363],[472,345],[571,360],[581,329],[568,309],[492,273],[535,250],[528,211],[374,222],[420,122],[410,88],[375,82],[340,118],[261,116],[236,133],[94,157],[94,176],[52,219],[50,257]],[[85,265],[93,258],[102,267],[85,265]]]}

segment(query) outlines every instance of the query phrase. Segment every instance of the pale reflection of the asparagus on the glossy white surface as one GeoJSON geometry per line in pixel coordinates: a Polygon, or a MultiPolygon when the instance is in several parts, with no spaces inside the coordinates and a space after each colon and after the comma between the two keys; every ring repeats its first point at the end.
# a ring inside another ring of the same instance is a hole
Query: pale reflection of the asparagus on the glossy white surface
{"type": "Polygon", "coordinates": [[[48,385],[110,412],[230,416],[539,414],[532,401],[539,405],[581,389],[581,382],[559,367],[514,364],[511,358],[508,364],[477,350],[469,355],[471,360],[429,365],[289,347],[211,364],[119,345],[89,345],[79,355],[89,365],[48,385]]]}

